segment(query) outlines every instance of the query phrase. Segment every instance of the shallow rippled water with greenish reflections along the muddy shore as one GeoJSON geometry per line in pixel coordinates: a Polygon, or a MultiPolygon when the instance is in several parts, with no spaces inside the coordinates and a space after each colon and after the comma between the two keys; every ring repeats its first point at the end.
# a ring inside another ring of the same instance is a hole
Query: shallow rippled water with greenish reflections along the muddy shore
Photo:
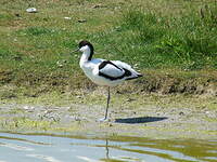
{"type": "Polygon", "coordinates": [[[217,140],[0,133],[0,162],[216,162],[217,140]]]}

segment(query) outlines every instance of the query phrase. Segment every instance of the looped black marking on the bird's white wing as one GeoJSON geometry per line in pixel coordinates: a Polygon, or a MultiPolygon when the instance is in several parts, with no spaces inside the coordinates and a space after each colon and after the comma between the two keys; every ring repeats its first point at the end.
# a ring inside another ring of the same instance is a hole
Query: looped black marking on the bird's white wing
{"type": "Polygon", "coordinates": [[[124,75],[122,75],[122,76],[119,76],[119,77],[113,77],[113,76],[108,76],[108,75],[106,75],[106,73],[103,73],[103,72],[99,71],[99,76],[102,76],[102,77],[104,77],[104,78],[106,78],[106,79],[110,79],[111,81],[118,80],[118,79],[123,79],[124,77],[129,77],[129,76],[131,76],[131,72],[130,72],[129,70],[127,70],[127,69],[125,69],[125,68],[119,68],[117,65],[115,65],[114,63],[112,63],[112,62],[110,62],[110,60],[104,60],[104,62],[102,62],[102,63],[100,64],[100,66],[99,66],[99,70],[100,70],[100,69],[103,69],[107,64],[113,65],[114,67],[116,67],[117,69],[119,69],[119,70],[122,70],[122,71],[124,70],[124,71],[125,71],[124,75]]]}

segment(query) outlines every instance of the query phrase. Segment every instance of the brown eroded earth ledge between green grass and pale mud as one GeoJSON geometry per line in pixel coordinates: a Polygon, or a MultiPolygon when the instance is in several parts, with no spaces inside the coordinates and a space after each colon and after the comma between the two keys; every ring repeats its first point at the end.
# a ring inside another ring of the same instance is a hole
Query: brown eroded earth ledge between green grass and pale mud
{"type": "MultiPolygon", "coordinates": [[[[144,77],[117,86],[117,93],[143,94],[194,94],[217,96],[217,71],[184,70],[145,70],[144,77]]],[[[80,71],[76,73],[55,71],[37,75],[16,71],[0,71],[0,98],[18,96],[38,97],[44,93],[59,91],[73,93],[85,91],[92,93],[99,87],[89,81],[80,71]]]]}

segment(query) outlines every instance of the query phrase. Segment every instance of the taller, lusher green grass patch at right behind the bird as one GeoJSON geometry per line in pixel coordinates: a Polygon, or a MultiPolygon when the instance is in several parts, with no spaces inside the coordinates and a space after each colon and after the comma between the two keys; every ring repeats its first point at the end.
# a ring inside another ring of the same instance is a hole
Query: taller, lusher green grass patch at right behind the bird
{"type": "MultiPolygon", "coordinates": [[[[217,13],[217,6],[207,10],[205,14],[217,13]]],[[[208,14],[202,18],[190,11],[189,14],[162,16],[130,9],[124,13],[118,30],[100,39],[119,44],[113,52],[119,52],[119,58],[138,63],[141,68],[216,69],[216,17],[208,14]]]]}

